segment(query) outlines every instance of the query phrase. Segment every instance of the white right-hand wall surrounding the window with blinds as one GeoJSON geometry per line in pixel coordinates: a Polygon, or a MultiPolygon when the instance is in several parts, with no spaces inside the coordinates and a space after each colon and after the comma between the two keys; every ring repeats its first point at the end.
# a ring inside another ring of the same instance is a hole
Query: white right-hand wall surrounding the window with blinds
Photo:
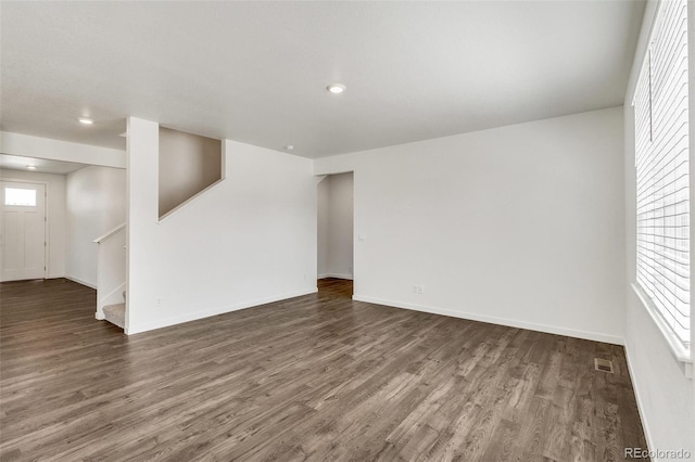
{"type": "MultiPolygon", "coordinates": [[[[695,59],[694,4],[688,5],[691,66],[695,59]]],[[[652,450],[688,450],[695,458],[695,382],[684,374],[684,364],[673,357],[664,335],[634,294],[631,282],[636,274],[636,204],[634,171],[634,110],[632,98],[642,56],[648,43],[657,2],[649,1],[635,52],[630,85],[624,101],[624,178],[626,178],[626,352],[642,424],[652,450]]],[[[692,68],[692,67],[691,67],[692,68]]],[[[691,107],[695,81],[691,79],[691,107]]],[[[691,118],[691,127],[695,120],[691,118]]],[[[693,131],[691,131],[693,133],[693,131]]],[[[691,146],[694,138],[691,137],[691,146]]],[[[691,149],[692,152],[692,149],[691,149]]],[[[691,166],[692,168],[692,166],[691,166]]],[[[691,206],[694,190],[691,190],[691,206]]],[[[695,331],[695,330],[694,330],[695,331]]],[[[691,333],[693,334],[693,332],[691,333]]],[[[654,461],[664,459],[654,458],[654,461]]]]}

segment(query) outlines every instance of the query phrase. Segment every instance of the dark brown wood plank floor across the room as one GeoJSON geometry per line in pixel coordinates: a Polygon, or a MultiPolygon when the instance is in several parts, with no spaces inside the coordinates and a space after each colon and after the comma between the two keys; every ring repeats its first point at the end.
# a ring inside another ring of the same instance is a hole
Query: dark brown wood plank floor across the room
{"type": "Polygon", "coordinates": [[[614,461],[646,448],[621,347],[351,293],[325,280],[128,337],[94,320],[92,290],[2,283],[0,460],[614,461]]]}

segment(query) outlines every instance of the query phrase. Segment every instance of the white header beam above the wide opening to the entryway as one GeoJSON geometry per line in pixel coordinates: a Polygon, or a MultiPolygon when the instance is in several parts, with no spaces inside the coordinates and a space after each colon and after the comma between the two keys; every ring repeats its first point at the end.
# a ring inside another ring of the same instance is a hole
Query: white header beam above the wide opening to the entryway
{"type": "Polygon", "coordinates": [[[75,162],[103,167],[124,168],[126,163],[126,155],[123,151],[9,131],[0,132],[0,150],[2,154],[75,162]]]}

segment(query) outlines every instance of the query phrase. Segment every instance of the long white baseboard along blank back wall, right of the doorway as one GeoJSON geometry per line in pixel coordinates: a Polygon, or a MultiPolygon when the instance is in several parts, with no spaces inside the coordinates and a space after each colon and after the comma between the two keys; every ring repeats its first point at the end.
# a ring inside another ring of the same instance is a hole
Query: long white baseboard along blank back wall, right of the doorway
{"type": "Polygon", "coordinates": [[[367,301],[376,305],[384,305],[394,308],[412,309],[414,311],[429,312],[432,315],[451,316],[452,318],[468,319],[470,321],[489,322],[492,324],[507,325],[509,328],[528,329],[530,331],[545,332],[547,334],[566,335],[568,337],[583,338],[587,341],[604,342],[614,345],[624,345],[624,338],[617,335],[601,334],[596,332],[577,331],[573,329],[557,328],[554,325],[536,324],[534,322],[519,321],[515,319],[497,318],[494,316],[477,315],[471,312],[452,310],[446,308],[435,308],[426,305],[408,304],[395,300],[386,300],[362,295],[353,295],[357,301],[367,301]]]}

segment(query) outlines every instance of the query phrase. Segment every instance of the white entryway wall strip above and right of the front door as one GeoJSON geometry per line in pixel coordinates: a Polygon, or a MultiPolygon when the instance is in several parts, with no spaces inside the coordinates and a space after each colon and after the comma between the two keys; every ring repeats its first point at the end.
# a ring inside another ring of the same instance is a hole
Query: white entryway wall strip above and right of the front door
{"type": "Polygon", "coordinates": [[[65,275],[65,176],[0,169],[2,180],[46,183],[48,214],[48,277],[65,275]]]}

